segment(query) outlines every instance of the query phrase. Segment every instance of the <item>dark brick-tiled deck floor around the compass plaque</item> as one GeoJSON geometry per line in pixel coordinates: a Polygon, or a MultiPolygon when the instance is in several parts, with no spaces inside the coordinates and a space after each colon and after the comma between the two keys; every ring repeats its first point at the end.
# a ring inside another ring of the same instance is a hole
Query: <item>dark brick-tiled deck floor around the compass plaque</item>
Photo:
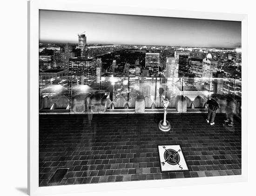
{"type": "Polygon", "coordinates": [[[205,114],[40,115],[40,186],[241,174],[241,123],[230,132],[223,115],[210,126],[205,114]],[[180,144],[190,171],[160,172],[157,145],[180,144]],[[69,168],[61,183],[48,183],[69,168]]]}

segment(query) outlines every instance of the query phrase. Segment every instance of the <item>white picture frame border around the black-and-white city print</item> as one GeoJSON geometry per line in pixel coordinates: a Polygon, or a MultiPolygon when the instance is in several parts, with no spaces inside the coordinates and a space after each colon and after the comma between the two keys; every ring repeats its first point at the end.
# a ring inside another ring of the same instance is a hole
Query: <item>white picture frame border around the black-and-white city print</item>
{"type": "Polygon", "coordinates": [[[245,182],[248,179],[248,17],[245,14],[210,13],[182,11],[171,9],[151,9],[145,7],[113,7],[107,5],[88,4],[84,0],[31,0],[28,2],[28,194],[47,195],[64,193],[81,193],[99,190],[142,189],[150,187],[169,187],[183,185],[198,185],[209,183],[245,182]],[[39,103],[38,103],[38,52],[39,52],[39,10],[60,10],[92,13],[116,13],[146,16],[164,16],[177,18],[234,20],[242,22],[242,53],[243,53],[243,105],[242,110],[242,175],[183,178],[169,180],[151,180],[122,183],[99,183],[39,187],[39,103]],[[172,181],[172,183],[169,183],[172,181]]]}

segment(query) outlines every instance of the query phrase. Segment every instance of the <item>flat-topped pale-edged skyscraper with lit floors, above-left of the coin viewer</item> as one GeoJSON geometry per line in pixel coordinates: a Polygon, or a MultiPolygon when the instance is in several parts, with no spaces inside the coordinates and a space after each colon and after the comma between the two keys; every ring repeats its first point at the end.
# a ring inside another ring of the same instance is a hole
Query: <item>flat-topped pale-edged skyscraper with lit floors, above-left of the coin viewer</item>
{"type": "Polygon", "coordinates": [[[145,67],[148,68],[150,77],[158,77],[159,64],[159,53],[146,53],[145,67]]]}

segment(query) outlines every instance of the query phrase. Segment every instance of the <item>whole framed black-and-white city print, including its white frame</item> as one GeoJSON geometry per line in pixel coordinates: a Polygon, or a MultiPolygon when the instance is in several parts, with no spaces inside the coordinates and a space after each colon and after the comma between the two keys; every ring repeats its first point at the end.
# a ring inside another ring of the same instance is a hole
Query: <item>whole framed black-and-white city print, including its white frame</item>
{"type": "Polygon", "coordinates": [[[247,180],[247,15],[28,11],[30,195],[247,180]]]}

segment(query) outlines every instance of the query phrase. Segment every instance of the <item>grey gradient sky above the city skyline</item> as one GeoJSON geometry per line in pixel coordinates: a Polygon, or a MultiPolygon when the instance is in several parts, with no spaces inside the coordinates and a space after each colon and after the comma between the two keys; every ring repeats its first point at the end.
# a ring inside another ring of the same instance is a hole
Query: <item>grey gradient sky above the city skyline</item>
{"type": "Polygon", "coordinates": [[[241,46],[241,22],[40,10],[40,42],[158,46],[241,46]]]}

